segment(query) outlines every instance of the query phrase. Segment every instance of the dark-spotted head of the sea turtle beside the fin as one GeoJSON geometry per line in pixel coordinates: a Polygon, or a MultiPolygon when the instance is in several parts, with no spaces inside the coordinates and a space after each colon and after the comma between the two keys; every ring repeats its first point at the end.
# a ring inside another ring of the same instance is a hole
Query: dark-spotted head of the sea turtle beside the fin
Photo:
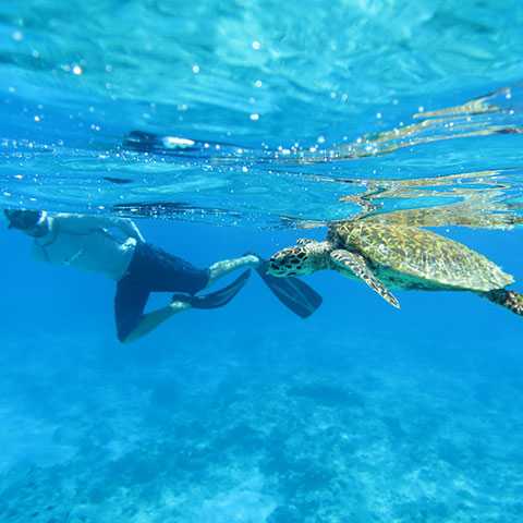
{"type": "Polygon", "coordinates": [[[327,242],[303,242],[273,254],[267,265],[267,272],[279,278],[312,275],[327,268],[327,242]]]}

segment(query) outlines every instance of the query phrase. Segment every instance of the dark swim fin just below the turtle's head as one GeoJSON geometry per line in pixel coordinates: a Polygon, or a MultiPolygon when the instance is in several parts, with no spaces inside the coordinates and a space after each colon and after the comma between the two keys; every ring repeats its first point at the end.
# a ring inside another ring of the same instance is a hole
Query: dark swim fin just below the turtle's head
{"type": "Polygon", "coordinates": [[[267,262],[265,260],[256,271],[272,294],[301,318],[308,318],[324,301],[312,287],[297,278],[276,278],[268,275],[267,262]]]}

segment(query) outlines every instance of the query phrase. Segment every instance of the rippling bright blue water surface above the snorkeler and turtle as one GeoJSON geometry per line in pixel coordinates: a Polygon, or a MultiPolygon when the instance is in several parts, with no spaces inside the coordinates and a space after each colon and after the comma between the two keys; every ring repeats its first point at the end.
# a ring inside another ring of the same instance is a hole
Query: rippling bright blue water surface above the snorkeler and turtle
{"type": "Polygon", "coordinates": [[[313,3],[3,5],[0,205],[519,222],[519,2],[313,3]]]}

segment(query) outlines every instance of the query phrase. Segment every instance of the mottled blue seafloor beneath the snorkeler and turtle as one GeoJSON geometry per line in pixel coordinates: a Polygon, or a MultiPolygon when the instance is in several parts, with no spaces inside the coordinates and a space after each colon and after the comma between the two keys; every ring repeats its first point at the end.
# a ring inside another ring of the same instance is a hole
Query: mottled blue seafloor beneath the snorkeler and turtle
{"type": "Polygon", "coordinates": [[[523,519],[523,378],[494,342],[38,336],[0,354],[2,523],[523,519]]]}

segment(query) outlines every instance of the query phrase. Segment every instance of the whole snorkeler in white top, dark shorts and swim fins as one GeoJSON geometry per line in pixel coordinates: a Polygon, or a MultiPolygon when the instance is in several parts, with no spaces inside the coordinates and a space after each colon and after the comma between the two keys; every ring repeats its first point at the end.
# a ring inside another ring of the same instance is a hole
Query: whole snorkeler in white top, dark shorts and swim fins
{"type": "Polygon", "coordinates": [[[250,268],[255,268],[280,302],[301,317],[313,314],[321,303],[319,294],[302,281],[278,280],[267,275],[264,260],[254,254],[198,269],[147,243],[130,219],[21,209],[5,209],[4,216],[10,229],[34,239],[37,259],[99,272],[117,281],[114,314],[121,342],[142,338],[183,311],[227,305],[245,284],[250,268]],[[242,268],[247,270],[231,284],[197,295],[242,268]],[[144,314],[151,292],[174,295],[169,305],[144,314]]]}

